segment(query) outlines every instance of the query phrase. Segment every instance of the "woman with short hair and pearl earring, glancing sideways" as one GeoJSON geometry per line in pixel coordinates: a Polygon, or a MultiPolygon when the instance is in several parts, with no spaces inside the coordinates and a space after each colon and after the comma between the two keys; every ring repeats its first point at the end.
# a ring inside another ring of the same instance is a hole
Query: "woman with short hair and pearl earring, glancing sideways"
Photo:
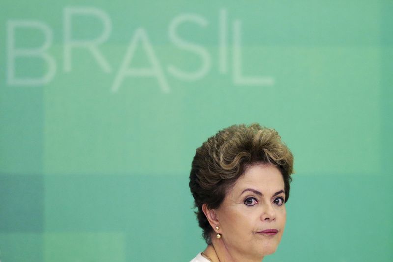
{"type": "Polygon", "coordinates": [[[293,156],[279,134],[233,125],[197,149],[190,190],[207,248],[191,262],[260,262],[285,227],[293,156]]]}

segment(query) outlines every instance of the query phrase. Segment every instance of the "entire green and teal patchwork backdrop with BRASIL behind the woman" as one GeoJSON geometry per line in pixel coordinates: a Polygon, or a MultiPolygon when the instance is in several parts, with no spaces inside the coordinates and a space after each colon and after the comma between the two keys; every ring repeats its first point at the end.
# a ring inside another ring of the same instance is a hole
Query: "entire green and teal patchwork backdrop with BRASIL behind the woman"
{"type": "Polygon", "coordinates": [[[264,261],[393,261],[393,1],[10,1],[0,261],[186,262],[197,147],[237,123],[295,156],[264,261]]]}

